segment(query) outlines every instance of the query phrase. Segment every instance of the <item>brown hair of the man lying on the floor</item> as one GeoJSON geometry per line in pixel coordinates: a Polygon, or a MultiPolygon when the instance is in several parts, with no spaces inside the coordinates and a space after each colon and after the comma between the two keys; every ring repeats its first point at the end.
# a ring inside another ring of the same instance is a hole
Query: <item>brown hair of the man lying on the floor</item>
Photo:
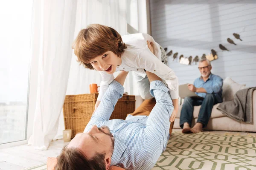
{"type": "Polygon", "coordinates": [[[105,154],[96,153],[88,159],[81,150],[63,147],[57,158],[55,170],[105,170],[105,154]]]}

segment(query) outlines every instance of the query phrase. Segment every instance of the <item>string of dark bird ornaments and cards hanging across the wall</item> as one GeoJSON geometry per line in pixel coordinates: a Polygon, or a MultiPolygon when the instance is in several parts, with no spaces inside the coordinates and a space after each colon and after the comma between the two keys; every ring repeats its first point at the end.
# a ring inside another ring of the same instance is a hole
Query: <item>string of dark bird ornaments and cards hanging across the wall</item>
{"type": "MultiPolygon", "coordinates": [[[[233,36],[234,36],[237,40],[242,41],[239,34],[233,33],[233,36]]],[[[231,38],[227,38],[227,42],[229,42],[230,44],[233,44],[233,45],[237,45],[231,38]]],[[[222,45],[222,44],[219,44],[219,48],[220,48],[222,51],[229,51],[229,50],[228,50],[226,47],[224,47],[224,45],[222,45]]],[[[166,47],[166,48],[164,48],[164,50],[167,52],[168,48],[166,47]]],[[[178,57],[178,54],[179,54],[178,52],[176,52],[176,53],[173,54],[173,51],[171,50],[171,51],[169,51],[166,55],[167,55],[168,57],[171,57],[171,56],[173,55],[173,56],[172,56],[172,57],[173,57],[173,60],[172,60],[172,61],[174,61],[174,60],[178,57]]],[[[216,52],[214,49],[211,49],[211,53],[209,53],[208,55],[203,54],[203,55],[201,56],[201,59],[205,59],[205,58],[206,58],[206,59],[209,59],[209,61],[218,59],[217,52],[216,52]]],[[[199,61],[198,55],[195,56],[195,58],[193,59],[192,56],[184,57],[184,55],[181,54],[178,59],[179,59],[180,64],[185,64],[185,65],[191,65],[192,62],[195,62],[195,64],[197,64],[197,62],[199,61]]]]}

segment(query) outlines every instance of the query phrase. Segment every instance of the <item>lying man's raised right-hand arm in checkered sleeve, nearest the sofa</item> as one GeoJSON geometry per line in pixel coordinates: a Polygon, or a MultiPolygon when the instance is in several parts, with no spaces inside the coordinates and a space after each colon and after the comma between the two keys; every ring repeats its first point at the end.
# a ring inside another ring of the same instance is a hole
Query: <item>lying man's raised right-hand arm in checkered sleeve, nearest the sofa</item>
{"type": "MultiPolygon", "coordinates": [[[[154,148],[153,157],[157,156],[163,151],[169,135],[170,122],[169,118],[174,109],[169,89],[163,81],[155,74],[146,71],[150,83],[150,93],[156,99],[156,105],[148,116],[144,134],[148,140],[148,145],[154,148]]],[[[153,151],[152,151],[153,152],[153,151]]],[[[157,160],[155,160],[157,161],[157,160]]]]}

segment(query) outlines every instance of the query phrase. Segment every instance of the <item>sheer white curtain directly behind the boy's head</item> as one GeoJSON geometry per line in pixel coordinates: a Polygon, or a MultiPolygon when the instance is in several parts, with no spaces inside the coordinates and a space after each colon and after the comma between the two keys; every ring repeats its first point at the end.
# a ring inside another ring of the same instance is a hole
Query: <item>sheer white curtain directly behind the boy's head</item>
{"type": "MultiPolygon", "coordinates": [[[[127,34],[125,0],[78,0],[75,37],[79,31],[92,23],[111,26],[121,35],[127,34]]],[[[101,76],[97,71],[85,69],[72,54],[68,94],[89,93],[89,84],[100,84],[101,76]]]]}

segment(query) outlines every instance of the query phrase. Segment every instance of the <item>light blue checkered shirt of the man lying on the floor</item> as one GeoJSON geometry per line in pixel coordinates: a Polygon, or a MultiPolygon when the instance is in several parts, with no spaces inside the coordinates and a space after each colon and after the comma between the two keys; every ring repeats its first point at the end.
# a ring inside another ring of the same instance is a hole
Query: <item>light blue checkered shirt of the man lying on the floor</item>
{"type": "Polygon", "coordinates": [[[169,89],[160,80],[151,82],[150,93],[156,98],[157,104],[149,116],[109,120],[123,93],[123,86],[114,80],[84,132],[90,130],[92,125],[108,126],[114,136],[111,166],[127,170],[150,170],[165,150],[169,139],[169,118],[173,111],[169,89]]]}

